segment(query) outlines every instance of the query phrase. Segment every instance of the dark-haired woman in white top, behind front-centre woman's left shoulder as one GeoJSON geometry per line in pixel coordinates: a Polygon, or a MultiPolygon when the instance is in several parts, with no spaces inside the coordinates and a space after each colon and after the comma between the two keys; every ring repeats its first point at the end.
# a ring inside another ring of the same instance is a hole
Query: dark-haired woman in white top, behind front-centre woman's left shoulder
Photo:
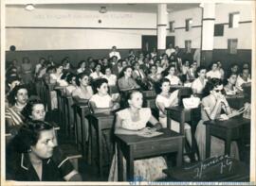
{"type": "Polygon", "coordinates": [[[97,79],[94,82],[96,93],[89,100],[90,107],[94,113],[109,112],[119,109],[118,103],[113,103],[108,94],[108,81],[105,78],[97,79]]]}

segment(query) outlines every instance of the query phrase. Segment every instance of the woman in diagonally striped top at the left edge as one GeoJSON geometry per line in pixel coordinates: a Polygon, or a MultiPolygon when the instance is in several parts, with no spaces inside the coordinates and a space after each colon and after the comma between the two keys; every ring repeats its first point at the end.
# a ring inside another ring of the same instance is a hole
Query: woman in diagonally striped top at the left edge
{"type": "Polygon", "coordinates": [[[24,116],[21,111],[27,105],[28,94],[25,85],[17,85],[9,93],[9,104],[12,107],[6,110],[6,126],[7,130],[13,127],[20,127],[24,122],[24,116]]]}

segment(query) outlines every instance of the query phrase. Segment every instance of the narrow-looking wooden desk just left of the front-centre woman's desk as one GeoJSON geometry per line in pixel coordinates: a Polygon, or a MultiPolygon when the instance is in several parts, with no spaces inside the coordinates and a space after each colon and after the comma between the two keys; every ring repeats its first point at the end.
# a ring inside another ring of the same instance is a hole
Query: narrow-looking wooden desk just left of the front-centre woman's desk
{"type": "MultiPolygon", "coordinates": [[[[102,177],[103,175],[103,154],[102,154],[102,130],[111,129],[114,127],[114,118],[115,115],[113,113],[94,113],[89,115],[90,117],[90,125],[92,125],[96,129],[97,136],[97,151],[98,151],[98,166],[99,173],[102,177]]],[[[92,134],[93,135],[93,134],[92,134]]],[[[93,147],[93,145],[92,145],[93,147]]],[[[113,145],[109,146],[110,149],[113,148],[113,145]]],[[[113,150],[111,150],[112,152],[113,150]]],[[[112,156],[110,156],[112,158],[112,156]]],[[[111,160],[109,160],[111,162],[111,160]]]]}

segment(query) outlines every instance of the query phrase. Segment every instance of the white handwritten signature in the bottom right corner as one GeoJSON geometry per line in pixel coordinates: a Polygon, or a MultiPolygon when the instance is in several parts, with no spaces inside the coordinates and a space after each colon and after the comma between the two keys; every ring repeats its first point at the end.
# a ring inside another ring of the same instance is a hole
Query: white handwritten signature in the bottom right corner
{"type": "Polygon", "coordinates": [[[226,168],[230,172],[232,168],[232,159],[228,155],[213,157],[210,159],[206,159],[205,161],[196,163],[195,165],[185,167],[185,170],[193,170],[193,172],[195,173],[193,178],[200,179],[204,175],[204,172],[213,166],[217,166],[217,168],[219,166],[220,174],[223,174],[226,168]]]}

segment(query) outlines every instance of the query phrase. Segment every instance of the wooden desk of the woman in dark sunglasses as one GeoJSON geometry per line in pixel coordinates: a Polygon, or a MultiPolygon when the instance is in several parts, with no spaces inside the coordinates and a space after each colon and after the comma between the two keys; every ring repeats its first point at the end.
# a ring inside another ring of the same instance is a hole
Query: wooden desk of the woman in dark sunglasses
{"type": "Polygon", "coordinates": [[[241,140],[244,125],[250,125],[250,120],[236,116],[226,121],[206,121],[206,158],[210,157],[210,136],[225,140],[225,155],[230,156],[232,140],[241,140]]]}

